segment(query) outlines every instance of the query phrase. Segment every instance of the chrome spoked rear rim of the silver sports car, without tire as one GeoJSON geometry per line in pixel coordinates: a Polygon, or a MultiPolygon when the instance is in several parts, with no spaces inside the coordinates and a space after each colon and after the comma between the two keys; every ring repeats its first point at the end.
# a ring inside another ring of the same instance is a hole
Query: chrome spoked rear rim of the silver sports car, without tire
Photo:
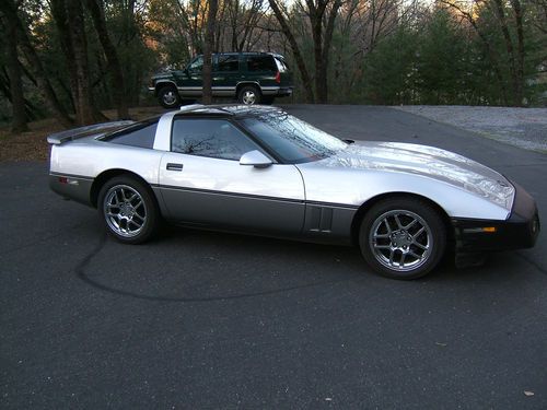
{"type": "Polygon", "coordinates": [[[139,235],[147,223],[147,206],[140,194],[127,185],[116,185],[107,192],[103,212],[108,227],[123,237],[139,235]]]}

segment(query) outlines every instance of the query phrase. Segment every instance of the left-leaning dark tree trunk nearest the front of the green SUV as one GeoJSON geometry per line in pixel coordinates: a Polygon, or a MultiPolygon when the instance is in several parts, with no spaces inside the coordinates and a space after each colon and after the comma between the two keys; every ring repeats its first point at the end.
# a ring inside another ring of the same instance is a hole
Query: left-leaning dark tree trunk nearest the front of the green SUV
{"type": "Polygon", "coordinates": [[[88,10],[91,13],[93,20],[93,25],[97,33],[101,45],[108,61],[108,71],[112,75],[110,84],[110,95],[114,96],[116,102],[116,109],[118,112],[118,118],[125,119],[129,118],[129,110],[127,108],[127,101],[125,99],[125,79],[121,71],[121,65],[119,63],[118,52],[114,44],[112,43],[110,36],[106,28],[106,22],[104,16],[103,3],[101,0],[85,0],[88,10]]]}

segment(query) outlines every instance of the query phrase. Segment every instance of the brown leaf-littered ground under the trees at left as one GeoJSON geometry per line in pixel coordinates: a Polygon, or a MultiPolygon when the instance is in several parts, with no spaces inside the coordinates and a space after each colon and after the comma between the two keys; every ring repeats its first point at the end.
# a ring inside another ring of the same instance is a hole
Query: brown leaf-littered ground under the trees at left
{"type": "MultiPolygon", "coordinates": [[[[162,107],[129,108],[133,120],[141,120],[164,113],[162,107]]],[[[109,119],[116,119],[116,110],[105,110],[103,114],[109,119]]],[[[42,119],[28,124],[30,130],[20,134],[10,132],[10,128],[0,128],[0,162],[5,161],[47,161],[49,144],[47,136],[62,131],[65,128],[54,118],[42,119]]]]}

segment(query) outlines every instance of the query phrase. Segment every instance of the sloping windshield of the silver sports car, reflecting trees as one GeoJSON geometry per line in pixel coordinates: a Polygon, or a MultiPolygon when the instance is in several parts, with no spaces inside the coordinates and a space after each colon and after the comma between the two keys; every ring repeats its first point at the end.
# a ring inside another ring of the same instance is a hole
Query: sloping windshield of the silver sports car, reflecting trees
{"type": "Polygon", "coordinates": [[[283,112],[258,113],[241,124],[283,163],[318,161],[348,144],[283,112]]]}

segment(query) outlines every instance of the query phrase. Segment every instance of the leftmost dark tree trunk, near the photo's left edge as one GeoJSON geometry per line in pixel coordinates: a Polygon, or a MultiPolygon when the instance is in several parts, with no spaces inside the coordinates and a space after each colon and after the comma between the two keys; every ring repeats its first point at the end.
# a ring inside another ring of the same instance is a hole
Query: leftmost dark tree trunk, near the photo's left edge
{"type": "Polygon", "coordinates": [[[20,133],[28,129],[26,125],[25,98],[23,94],[23,81],[21,65],[18,59],[18,27],[12,19],[5,20],[5,32],[8,38],[7,69],[10,79],[10,93],[12,106],[11,131],[20,133]]]}

